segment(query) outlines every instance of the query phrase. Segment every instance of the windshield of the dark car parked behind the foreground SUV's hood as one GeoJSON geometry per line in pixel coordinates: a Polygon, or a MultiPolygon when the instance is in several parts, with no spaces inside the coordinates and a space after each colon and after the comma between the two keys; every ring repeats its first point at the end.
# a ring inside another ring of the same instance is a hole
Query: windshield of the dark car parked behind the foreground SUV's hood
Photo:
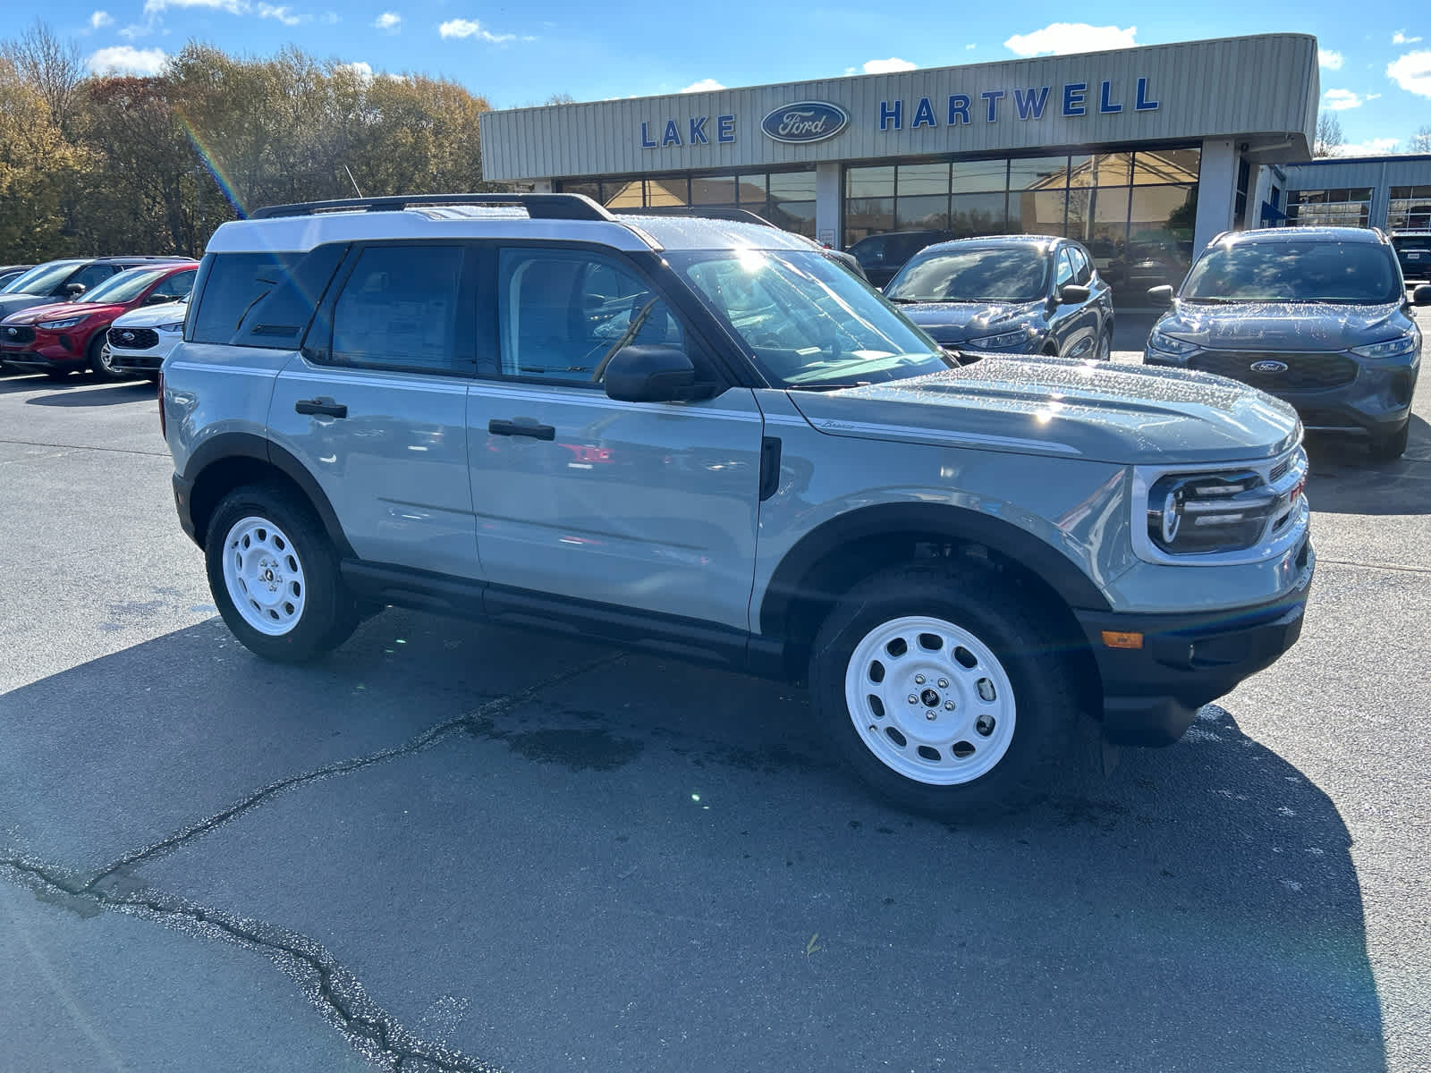
{"type": "Polygon", "coordinates": [[[897,302],[1037,302],[1049,258],[1036,246],[927,250],[884,293],[897,302]]]}

